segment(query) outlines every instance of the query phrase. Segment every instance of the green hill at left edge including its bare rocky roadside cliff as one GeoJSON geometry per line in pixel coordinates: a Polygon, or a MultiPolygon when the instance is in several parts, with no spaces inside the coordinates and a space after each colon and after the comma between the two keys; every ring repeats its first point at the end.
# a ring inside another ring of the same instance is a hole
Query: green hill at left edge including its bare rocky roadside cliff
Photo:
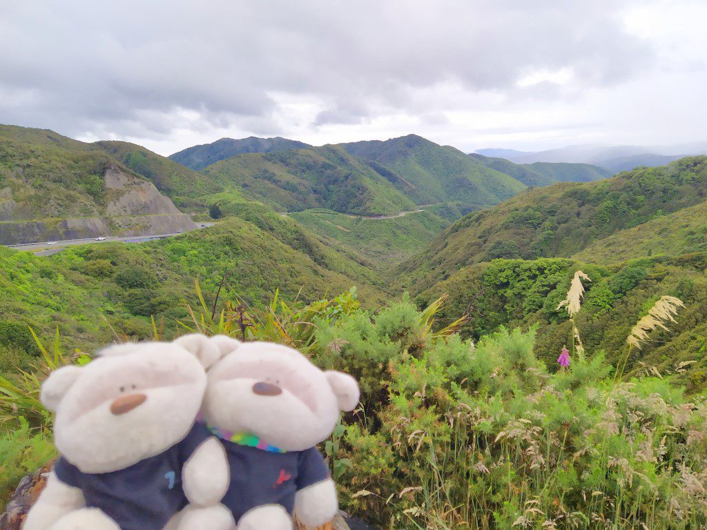
{"type": "Polygon", "coordinates": [[[102,148],[0,126],[0,244],[193,228],[151,182],[102,148]]]}

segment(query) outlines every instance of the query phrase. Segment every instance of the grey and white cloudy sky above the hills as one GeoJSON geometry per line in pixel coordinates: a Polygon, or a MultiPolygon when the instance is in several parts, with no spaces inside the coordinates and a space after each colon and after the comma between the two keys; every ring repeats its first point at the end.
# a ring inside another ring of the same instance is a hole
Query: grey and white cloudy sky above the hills
{"type": "Polygon", "coordinates": [[[167,155],[707,139],[704,0],[0,2],[0,123],[167,155]]]}

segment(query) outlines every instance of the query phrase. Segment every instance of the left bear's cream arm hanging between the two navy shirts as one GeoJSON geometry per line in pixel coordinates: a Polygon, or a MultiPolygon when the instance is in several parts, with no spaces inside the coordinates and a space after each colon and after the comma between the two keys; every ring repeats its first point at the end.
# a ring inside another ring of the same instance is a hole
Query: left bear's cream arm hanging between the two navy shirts
{"type": "Polygon", "coordinates": [[[218,504],[226,495],[230,469],[226,449],[216,437],[202,442],[182,468],[182,488],[192,505],[218,504]]]}

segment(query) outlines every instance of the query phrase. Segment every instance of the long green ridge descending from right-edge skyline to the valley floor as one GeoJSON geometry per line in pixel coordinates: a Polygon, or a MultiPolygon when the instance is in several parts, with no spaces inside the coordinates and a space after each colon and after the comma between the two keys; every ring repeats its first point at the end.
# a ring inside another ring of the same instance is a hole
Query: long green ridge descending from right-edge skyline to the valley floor
{"type": "Polygon", "coordinates": [[[458,220],[401,266],[403,283],[419,293],[479,261],[570,257],[592,242],[704,201],[705,194],[706,157],[600,182],[535,188],[458,220]]]}

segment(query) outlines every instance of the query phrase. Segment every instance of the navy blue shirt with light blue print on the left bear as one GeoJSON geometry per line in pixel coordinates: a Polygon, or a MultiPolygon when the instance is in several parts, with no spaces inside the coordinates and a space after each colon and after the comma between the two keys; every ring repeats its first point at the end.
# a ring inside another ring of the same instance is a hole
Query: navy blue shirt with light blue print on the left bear
{"type": "Polygon", "coordinates": [[[79,488],[86,506],[99,508],[121,530],[161,530],[187,505],[182,466],[211,432],[197,423],[182,442],[165,452],[110,473],[83,473],[64,457],[54,464],[59,481],[79,488]]]}

